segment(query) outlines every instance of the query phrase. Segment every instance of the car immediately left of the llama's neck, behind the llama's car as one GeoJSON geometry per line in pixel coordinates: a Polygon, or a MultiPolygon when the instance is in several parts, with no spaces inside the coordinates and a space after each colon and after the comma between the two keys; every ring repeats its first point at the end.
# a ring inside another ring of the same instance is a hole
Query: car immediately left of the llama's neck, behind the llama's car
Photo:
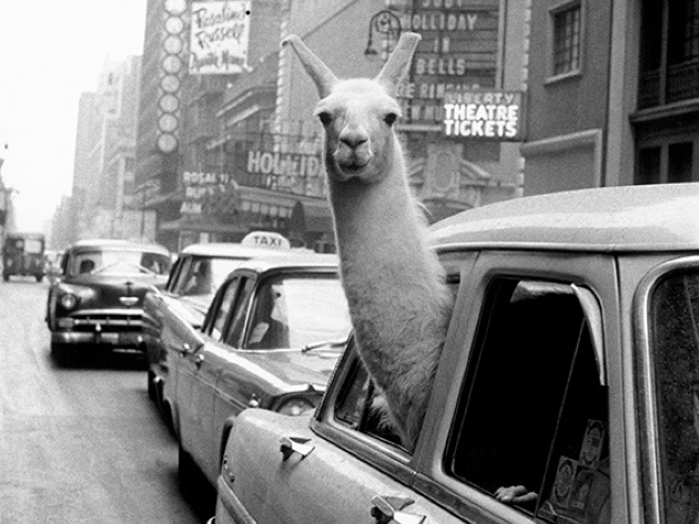
{"type": "Polygon", "coordinates": [[[337,258],[317,254],[245,260],[219,288],[201,330],[179,318],[163,326],[163,403],[185,486],[199,471],[215,485],[222,443],[245,408],[314,410],[351,329],[337,258]]]}

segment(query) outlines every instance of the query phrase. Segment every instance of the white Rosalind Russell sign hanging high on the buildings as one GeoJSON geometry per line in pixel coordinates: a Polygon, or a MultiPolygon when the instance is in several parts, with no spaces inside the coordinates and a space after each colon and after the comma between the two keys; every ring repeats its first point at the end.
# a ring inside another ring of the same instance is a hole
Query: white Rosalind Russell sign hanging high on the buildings
{"type": "Polygon", "coordinates": [[[190,73],[236,74],[247,70],[250,3],[192,2],[190,73]]]}

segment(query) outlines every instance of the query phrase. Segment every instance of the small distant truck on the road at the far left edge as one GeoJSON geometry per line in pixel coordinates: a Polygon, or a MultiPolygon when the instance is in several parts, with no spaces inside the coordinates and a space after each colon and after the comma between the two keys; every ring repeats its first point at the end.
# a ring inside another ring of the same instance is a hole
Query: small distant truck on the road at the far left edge
{"type": "Polygon", "coordinates": [[[44,246],[41,233],[8,233],[2,246],[2,279],[7,282],[11,276],[22,275],[43,280],[44,246]]]}

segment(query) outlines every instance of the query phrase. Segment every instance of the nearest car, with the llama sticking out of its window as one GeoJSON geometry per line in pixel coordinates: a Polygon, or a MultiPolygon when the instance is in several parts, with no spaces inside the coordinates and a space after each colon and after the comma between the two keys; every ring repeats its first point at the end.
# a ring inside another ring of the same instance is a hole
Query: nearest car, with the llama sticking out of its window
{"type": "Polygon", "coordinates": [[[697,522],[699,184],[514,199],[432,238],[456,299],[414,452],[351,343],[315,414],[235,419],[216,524],[697,522]]]}

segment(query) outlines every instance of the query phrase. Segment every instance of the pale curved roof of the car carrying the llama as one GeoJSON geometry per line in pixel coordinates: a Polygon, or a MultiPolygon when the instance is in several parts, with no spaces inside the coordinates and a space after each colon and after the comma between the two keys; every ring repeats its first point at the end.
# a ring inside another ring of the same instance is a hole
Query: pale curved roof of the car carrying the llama
{"type": "Polygon", "coordinates": [[[604,187],[514,198],[445,218],[437,250],[588,251],[699,249],[699,183],[604,187]]]}

